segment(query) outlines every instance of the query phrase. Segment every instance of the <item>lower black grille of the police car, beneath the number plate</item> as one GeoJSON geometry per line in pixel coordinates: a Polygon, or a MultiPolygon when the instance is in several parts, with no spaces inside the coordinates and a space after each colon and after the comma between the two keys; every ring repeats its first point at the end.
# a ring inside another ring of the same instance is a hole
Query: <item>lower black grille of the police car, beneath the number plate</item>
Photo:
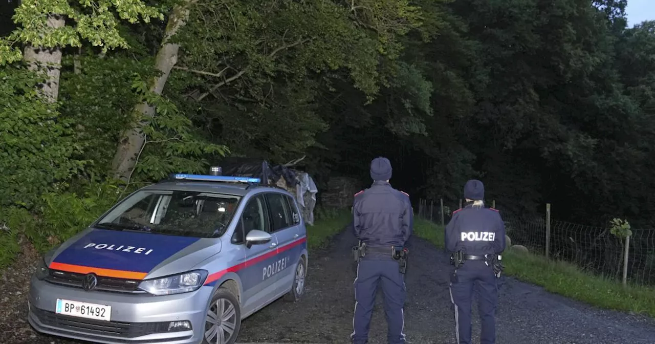
{"type": "Polygon", "coordinates": [[[134,338],[141,335],[168,332],[168,322],[118,322],[103,321],[75,316],[59,315],[31,307],[32,314],[46,326],[61,330],[79,331],[90,335],[111,335],[122,338],[134,338]]]}

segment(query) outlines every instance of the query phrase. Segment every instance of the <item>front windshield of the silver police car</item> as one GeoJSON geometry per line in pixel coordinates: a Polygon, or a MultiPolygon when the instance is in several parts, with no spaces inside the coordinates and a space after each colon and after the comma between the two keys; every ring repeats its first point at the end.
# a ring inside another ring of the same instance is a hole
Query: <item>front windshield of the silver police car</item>
{"type": "Polygon", "coordinates": [[[238,196],[191,191],[138,191],[95,227],[185,237],[215,238],[225,233],[238,196]]]}

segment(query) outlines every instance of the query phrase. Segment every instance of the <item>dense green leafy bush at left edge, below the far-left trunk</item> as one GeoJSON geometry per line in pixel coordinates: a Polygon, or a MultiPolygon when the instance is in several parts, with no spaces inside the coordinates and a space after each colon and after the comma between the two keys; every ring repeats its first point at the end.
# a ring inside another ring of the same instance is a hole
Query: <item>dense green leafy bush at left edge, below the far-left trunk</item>
{"type": "Polygon", "coordinates": [[[0,69],[0,206],[31,208],[84,166],[71,121],[37,94],[42,81],[20,67],[0,69]]]}

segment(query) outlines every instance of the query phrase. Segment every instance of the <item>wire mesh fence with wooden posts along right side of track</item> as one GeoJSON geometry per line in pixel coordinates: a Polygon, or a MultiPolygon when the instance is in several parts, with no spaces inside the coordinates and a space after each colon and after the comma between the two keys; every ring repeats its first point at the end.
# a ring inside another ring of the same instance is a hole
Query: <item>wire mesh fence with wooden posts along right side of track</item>
{"type": "MultiPolygon", "coordinates": [[[[421,199],[417,216],[446,225],[460,205],[446,202],[442,207],[442,202],[421,199]]],[[[620,237],[609,224],[594,227],[552,220],[546,206],[542,216],[519,216],[502,207],[500,214],[510,238],[508,246],[523,246],[533,254],[567,261],[612,280],[655,285],[655,229],[631,229],[628,237],[620,237]]]]}

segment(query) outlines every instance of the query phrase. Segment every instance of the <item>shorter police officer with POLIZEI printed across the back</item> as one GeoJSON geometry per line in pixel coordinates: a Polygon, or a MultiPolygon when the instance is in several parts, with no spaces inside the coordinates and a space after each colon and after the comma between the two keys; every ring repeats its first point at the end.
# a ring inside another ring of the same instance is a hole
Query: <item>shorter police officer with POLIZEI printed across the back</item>
{"type": "Polygon", "coordinates": [[[498,210],[485,208],[485,188],[479,180],[464,185],[464,208],[455,210],[445,228],[446,248],[453,253],[451,301],[455,305],[455,333],[458,344],[471,343],[471,307],[474,286],[479,288],[478,313],[482,324],[480,344],[496,342],[496,278],[505,250],[505,225],[498,210]]]}

